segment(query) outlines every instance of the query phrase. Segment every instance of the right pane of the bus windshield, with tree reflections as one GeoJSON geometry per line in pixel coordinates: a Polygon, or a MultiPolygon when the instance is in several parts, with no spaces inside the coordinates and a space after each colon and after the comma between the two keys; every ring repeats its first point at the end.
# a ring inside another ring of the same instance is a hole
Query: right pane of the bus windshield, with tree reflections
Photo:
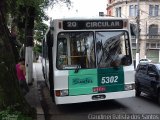
{"type": "Polygon", "coordinates": [[[129,36],[125,31],[96,32],[98,67],[131,64],[129,36]]]}

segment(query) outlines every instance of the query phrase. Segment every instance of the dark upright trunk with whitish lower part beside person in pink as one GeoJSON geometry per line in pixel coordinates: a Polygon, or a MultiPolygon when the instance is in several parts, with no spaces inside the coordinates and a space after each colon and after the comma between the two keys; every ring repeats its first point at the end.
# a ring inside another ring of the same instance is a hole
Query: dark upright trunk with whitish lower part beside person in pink
{"type": "Polygon", "coordinates": [[[33,30],[34,30],[34,17],[35,8],[32,6],[19,7],[21,14],[19,15],[18,25],[25,31],[25,44],[24,56],[26,65],[26,81],[32,84],[33,78],[33,30]]]}

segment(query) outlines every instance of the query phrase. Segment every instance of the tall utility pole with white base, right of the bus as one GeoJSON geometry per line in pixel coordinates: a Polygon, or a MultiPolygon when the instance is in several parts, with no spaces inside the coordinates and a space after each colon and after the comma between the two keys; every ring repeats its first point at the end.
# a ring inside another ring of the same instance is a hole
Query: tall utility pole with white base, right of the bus
{"type": "Polygon", "coordinates": [[[139,6],[140,6],[140,5],[139,5],[139,0],[137,0],[136,67],[137,67],[137,65],[138,65],[138,63],[139,63],[139,51],[140,51],[140,49],[139,49],[139,38],[140,38],[140,9],[139,9],[139,6]]]}

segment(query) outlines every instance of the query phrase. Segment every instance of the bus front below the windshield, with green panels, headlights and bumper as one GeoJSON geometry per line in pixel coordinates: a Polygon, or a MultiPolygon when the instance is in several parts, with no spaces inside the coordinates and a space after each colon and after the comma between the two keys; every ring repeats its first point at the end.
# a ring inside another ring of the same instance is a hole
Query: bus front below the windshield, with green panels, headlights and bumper
{"type": "Polygon", "coordinates": [[[134,76],[131,70],[125,71],[123,67],[81,69],[78,73],[69,70],[64,76],[57,75],[59,81],[56,82],[57,88],[55,88],[56,104],[133,97],[135,96],[134,76]],[[62,88],[62,86],[66,87],[62,88]]]}

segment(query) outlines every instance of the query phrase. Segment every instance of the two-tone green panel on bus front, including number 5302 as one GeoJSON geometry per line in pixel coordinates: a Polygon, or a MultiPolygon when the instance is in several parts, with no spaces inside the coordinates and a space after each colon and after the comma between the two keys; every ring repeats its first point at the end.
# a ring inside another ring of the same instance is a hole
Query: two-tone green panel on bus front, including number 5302
{"type": "Polygon", "coordinates": [[[70,70],[68,80],[71,96],[124,91],[123,67],[70,70]]]}

